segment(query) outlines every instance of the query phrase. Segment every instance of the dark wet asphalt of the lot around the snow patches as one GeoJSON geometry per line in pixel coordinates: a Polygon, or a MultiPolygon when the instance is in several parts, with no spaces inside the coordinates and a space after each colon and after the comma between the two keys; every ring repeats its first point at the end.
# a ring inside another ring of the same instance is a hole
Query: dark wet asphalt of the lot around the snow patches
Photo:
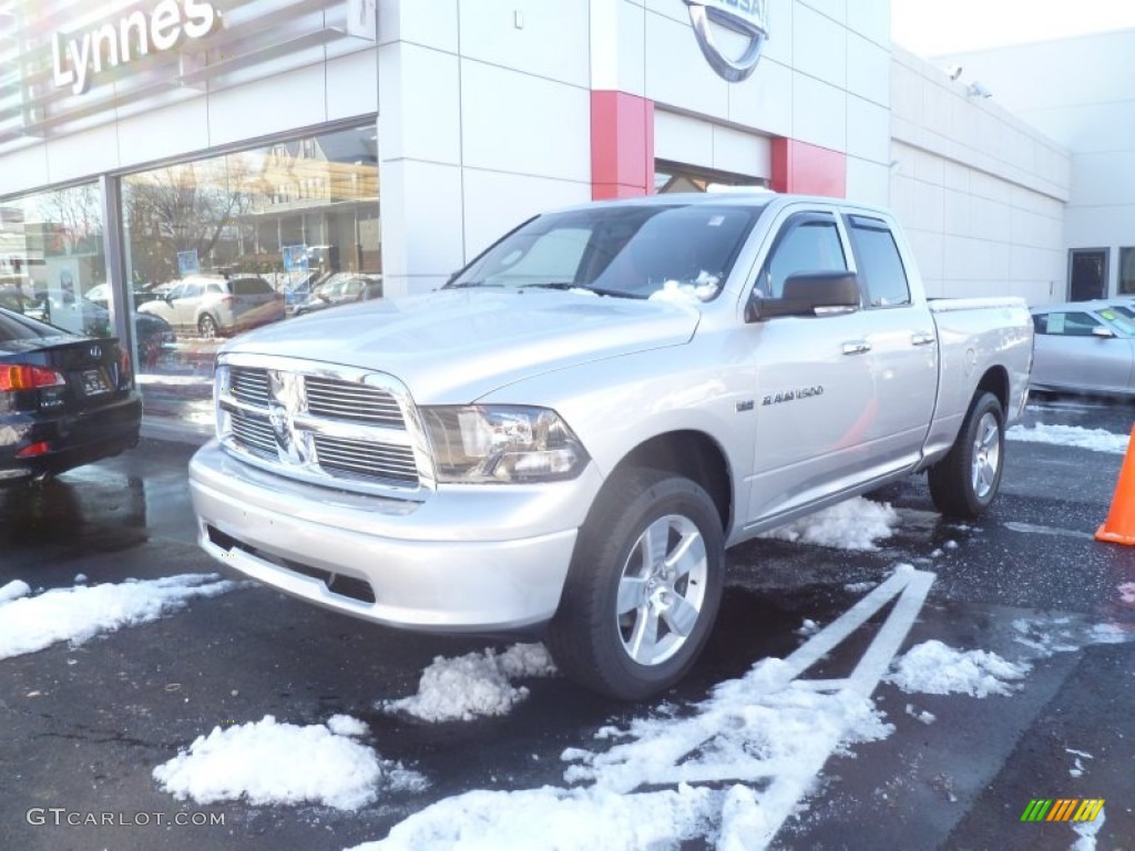
{"type": "MultiPolygon", "coordinates": [[[[1039,399],[1028,421],[1126,435],[1135,406],[1039,399]]],[[[182,573],[226,573],[193,540],[185,467],[193,447],[146,440],[34,491],[0,491],[0,587],[70,587],[182,573]]],[[[344,849],[378,840],[432,801],[472,789],[562,784],[565,748],[663,702],[681,707],[715,683],[801,643],[805,618],[830,623],[897,564],[936,574],[905,647],[939,639],[1006,657],[1022,624],[1107,624],[1135,632],[1135,549],[1092,538],[1111,505],[1123,456],[1011,441],[1001,495],[981,521],[933,512],[925,481],[872,498],[901,523],[876,551],[849,553],[758,540],[730,553],[723,612],[696,673],[649,705],[594,697],[558,679],[528,683],[503,718],[426,724],[375,709],[414,692],[436,656],[485,640],[423,637],[356,622],[242,584],[174,615],[69,647],[0,660],[0,849],[344,849]],[[320,723],[361,718],[382,756],[432,780],[359,811],[316,806],[208,806],[178,801],[154,766],[220,724],[274,715],[320,723]],[[222,825],[34,824],[35,808],[82,812],[199,812],[222,825]]],[[[877,626],[877,625],[876,625],[877,626]]],[[[869,641],[826,660],[850,664],[869,641]]],[[[1041,630],[1037,626],[1037,630],[1041,630]]],[[[883,741],[827,761],[785,823],[781,849],[1070,849],[1068,825],[1026,824],[1037,798],[1103,798],[1094,848],[1135,848],[1135,643],[1091,643],[1040,656],[1010,697],[910,696],[881,686],[876,703],[896,726],[883,741]],[[935,716],[932,724],[914,717],[935,716]],[[1090,753],[1076,774],[1075,753],[1090,753]]],[[[724,780],[724,778],[723,778],[724,780]]],[[[684,846],[696,848],[696,844],[684,846]]]]}

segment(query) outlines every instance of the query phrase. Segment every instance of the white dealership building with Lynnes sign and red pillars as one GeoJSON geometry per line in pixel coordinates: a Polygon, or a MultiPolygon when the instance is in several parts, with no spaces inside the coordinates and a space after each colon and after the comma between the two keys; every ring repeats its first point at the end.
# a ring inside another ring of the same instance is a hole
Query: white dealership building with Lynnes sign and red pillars
{"type": "Polygon", "coordinates": [[[150,421],[204,430],[221,276],[424,292],[592,199],[847,197],[894,208],[932,296],[1060,301],[1085,250],[1135,292],[1135,112],[1104,102],[1135,43],[1108,37],[1063,87],[997,51],[948,73],[886,0],[0,0],[0,304],[131,339],[150,421]],[[143,352],[153,301],[186,310],[143,352]]]}

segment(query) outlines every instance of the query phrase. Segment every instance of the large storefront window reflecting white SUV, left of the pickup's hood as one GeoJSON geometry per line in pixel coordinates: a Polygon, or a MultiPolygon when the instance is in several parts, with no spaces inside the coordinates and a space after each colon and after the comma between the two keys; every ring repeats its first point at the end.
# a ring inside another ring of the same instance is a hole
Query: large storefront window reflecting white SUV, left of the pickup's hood
{"type": "Polygon", "coordinates": [[[123,178],[146,415],[211,428],[224,339],[381,297],[378,197],[373,126],[123,178]]]}

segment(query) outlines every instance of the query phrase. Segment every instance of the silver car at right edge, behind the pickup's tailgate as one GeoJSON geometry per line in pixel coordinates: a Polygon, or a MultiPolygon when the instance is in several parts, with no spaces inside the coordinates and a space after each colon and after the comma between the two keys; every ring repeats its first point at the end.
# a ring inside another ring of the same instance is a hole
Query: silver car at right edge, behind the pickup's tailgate
{"type": "Polygon", "coordinates": [[[1135,318],[1110,301],[1033,307],[1029,386],[1059,393],[1135,393],[1135,318]]]}

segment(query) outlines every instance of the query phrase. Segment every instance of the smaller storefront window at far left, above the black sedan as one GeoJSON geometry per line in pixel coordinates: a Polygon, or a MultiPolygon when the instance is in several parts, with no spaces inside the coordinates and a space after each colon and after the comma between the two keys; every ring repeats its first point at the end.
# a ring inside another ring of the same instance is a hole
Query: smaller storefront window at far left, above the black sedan
{"type": "Polygon", "coordinates": [[[107,337],[107,279],[98,184],[0,202],[0,306],[107,337]]]}

